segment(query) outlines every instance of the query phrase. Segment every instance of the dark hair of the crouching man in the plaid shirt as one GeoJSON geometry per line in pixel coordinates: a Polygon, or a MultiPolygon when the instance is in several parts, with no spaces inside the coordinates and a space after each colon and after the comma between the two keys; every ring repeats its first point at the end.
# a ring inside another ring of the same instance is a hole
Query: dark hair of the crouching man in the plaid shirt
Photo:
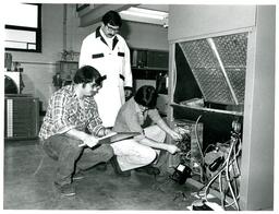
{"type": "Polygon", "coordinates": [[[74,83],[75,84],[83,83],[83,85],[85,85],[86,83],[90,83],[95,81],[96,84],[101,85],[101,82],[105,79],[106,76],[101,76],[99,71],[97,71],[95,68],[90,66],[84,66],[77,69],[74,75],[74,83]]]}

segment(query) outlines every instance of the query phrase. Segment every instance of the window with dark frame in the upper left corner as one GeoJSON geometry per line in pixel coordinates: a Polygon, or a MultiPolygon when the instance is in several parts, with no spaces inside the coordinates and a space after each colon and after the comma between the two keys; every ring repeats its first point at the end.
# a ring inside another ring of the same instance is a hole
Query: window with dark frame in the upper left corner
{"type": "Polygon", "coordinates": [[[5,50],[41,52],[41,4],[13,4],[5,20],[5,50]]]}

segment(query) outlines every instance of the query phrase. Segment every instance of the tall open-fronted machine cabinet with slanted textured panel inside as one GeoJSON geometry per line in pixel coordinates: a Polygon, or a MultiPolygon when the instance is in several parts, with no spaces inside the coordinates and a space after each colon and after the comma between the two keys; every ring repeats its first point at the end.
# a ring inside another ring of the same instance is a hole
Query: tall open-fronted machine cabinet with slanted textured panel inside
{"type": "Polygon", "coordinates": [[[202,116],[204,147],[226,142],[232,121],[242,122],[243,211],[275,204],[275,5],[169,8],[168,121],[202,116]]]}

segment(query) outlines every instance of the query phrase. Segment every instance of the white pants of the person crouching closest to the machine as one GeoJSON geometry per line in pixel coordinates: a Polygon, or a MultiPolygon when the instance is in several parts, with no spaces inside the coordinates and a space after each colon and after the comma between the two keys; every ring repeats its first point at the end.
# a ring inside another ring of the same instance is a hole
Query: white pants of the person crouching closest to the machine
{"type": "MultiPolygon", "coordinates": [[[[158,143],[163,143],[166,132],[158,126],[151,126],[144,129],[145,135],[158,143]]],[[[154,150],[147,145],[143,145],[134,139],[123,140],[111,144],[121,170],[130,170],[133,168],[146,166],[155,160],[159,154],[159,150],[154,150]]]]}

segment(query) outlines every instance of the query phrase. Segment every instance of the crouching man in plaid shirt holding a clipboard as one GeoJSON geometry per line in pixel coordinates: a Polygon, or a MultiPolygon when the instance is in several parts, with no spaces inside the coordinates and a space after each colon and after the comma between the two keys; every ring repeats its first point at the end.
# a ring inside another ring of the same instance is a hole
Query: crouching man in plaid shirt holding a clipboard
{"type": "Polygon", "coordinates": [[[101,124],[94,99],[105,79],[93,67],[83,67],[76,71],[73,84],[50,97],[39,138],[45,152],[58,160],[54,187],[62,195],[75,194],[75,174],[113,156],[112,147],[99,145],[97,138],[110,132],[101,124]]]}

